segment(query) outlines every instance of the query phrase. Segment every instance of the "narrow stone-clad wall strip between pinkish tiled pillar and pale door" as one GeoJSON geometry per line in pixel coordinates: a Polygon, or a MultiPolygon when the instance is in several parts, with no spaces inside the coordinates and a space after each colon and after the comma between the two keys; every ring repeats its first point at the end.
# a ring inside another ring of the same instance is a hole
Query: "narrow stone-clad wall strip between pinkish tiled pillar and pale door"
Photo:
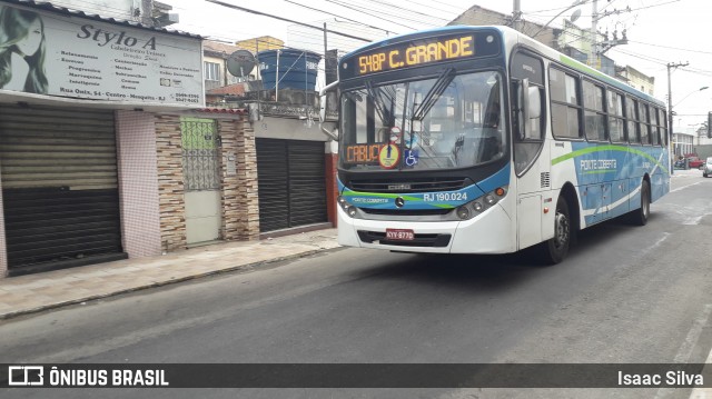
{"type": "Polygon", "coordinates": [[[165,251],[187,246],[181,147],[180,117],[156,116],[158,205],[161,248],[165,251]]]}

